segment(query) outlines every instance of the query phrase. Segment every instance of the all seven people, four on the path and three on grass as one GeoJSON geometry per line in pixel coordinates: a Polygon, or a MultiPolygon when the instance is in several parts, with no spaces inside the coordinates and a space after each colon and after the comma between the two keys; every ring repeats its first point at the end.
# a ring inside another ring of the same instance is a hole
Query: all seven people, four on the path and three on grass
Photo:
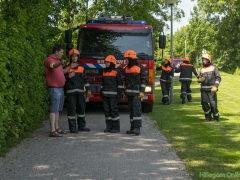
{"type": "MultiPolygon", "coordinates": [[[[67,117],[70,133],[79,131],[90,131],[86,127],[85,103],[91,96],[90,85],[85,75],[84,68],[79,64],[80,52],[71,49],[68,53],[70,62],[60,60],[63,56],[64,48],[55,45],[52,54],[47,57],[44,63],[47,90],[50,97],[50,137],[62,137],[67,132],[61,130],[58,125],[59,111],[63,109],[64,88],[67,96],[67,117]],[[64,67],[62,65],[65,65],[64,67]],[[77,113],[77,118],[76,114],[77,113]]],[[[141,100],[144,97],[147,84],[147,74],[144,67],[138,63],[136,52],[127,50],[124,54],[126,60],[125,82],[123,82],[121,71],[115,68],[116,58],[108,55],[104,59],[106,67],[102,73],[102,85],[100,96],[103,99],[106,129],[104,132],[120,132],[120,117],[118,113],[118,101],[122,98],[127,99],[130,111],[130,130],[127,134],[140,134],[142,127],[141,121],[141,100]],[[124,88],[123,88],[124,84],[124,88]]],[[[198,75],[196,69],[188,57],[184,57],[183,63],[175,68],[172,66],[172,59],[165,58],[164,65],[157,67],[161,70],[160,84],[162,89],[162,103],[169,105],[169,91],[173,81],[174,72],[180,72],[179,81],[181,82],[182,104],[185,99],[192,101],[191,82],[192,73],[201,83],[201,105],[205,114],[205,122],[214,119],[219,121],[217,108],[217,90],[221,81],[218,68],[212,64],[209,54],[202,55],[203,67],[198,75]]]]}

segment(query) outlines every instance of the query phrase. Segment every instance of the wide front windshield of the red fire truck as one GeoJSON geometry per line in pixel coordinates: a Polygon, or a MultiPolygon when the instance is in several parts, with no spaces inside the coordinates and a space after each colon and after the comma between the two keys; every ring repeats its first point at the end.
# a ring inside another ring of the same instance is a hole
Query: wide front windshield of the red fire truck
{"type": "Polygon", "coordinates": [[[112,31],[81,29],[79,49],[82,55],[123,55],[132,49],[139,56],[153,56],[150,30],[112,31]]]}

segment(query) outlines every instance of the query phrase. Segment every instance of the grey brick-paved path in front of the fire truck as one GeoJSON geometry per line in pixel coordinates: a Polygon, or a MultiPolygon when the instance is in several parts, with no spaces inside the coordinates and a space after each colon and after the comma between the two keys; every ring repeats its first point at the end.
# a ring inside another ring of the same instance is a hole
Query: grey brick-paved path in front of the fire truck
{"type": "MultiPolygon", "coordinates": [[[[121,132],[104,133],[102,107],[86,112],[90,132],[48,137],[49,123],[0,159],[0,179],[36,180],[187,180],[184,164],[166,138],[143,114],[141,135],[129,129],[127,106],[119,106],[121,132]]],[[[60,127],[67,129],[66,109],[60,127]]]]}

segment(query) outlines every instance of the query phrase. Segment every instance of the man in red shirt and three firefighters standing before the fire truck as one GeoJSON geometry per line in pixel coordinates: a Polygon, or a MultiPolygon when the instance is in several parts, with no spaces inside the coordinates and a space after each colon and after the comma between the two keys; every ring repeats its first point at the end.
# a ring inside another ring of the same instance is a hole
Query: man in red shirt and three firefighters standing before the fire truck
{"type": "MultiPolygon", "coordinates": [[[[79,64],[80,52],[71,49],[68,53],[70,62],[60,60],[64,49],[60,45],[53,47],[52,54],[44,63],[46,85],[50,97],[50,137],[62,137],[66,134],[58,126],[59,111],[63,109],[64,87],[67,96],[67,116],[70,133],[90,131],[86,127],[85,103],[91,96],[90,85],[84,68],[79,64]],[[77,118],[75,115],[77,113],[77,118]]],[[[147,74],[144,67],[137,62],[136,52],[127,50],[124,54],[127,66],[125,68],[125,82],[121,71],[115,68],[116,58],[108,55],[104,59],[106,68],[103,69],[103,80],[100,96],[103,99],[106,129],[104,132],[120,132],[120,117],[118,113],[118,100],[127,99],[130,111],[130,130],[127,134],[139,135],[142,126],[141,100],[147,83],[147,74]],[[123,88],[123,83],[125,88],[123,88]]]]}

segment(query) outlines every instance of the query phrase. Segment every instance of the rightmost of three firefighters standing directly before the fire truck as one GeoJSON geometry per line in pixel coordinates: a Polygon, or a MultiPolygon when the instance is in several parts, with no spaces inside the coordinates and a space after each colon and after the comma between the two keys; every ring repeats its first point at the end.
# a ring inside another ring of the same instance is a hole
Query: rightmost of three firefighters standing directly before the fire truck
{"type": "Polygon", "coordinates": [[[147,83],[147,74],[144,67],[137,62],[136,52],[127,50],[124,54],[127,66],[125,68],[125,94],[128,99],[130,111],[130,130],[127,134],[140,134],[142,127],[142,105],[141,100],[144,97],[144,91],[147,83]]]}

